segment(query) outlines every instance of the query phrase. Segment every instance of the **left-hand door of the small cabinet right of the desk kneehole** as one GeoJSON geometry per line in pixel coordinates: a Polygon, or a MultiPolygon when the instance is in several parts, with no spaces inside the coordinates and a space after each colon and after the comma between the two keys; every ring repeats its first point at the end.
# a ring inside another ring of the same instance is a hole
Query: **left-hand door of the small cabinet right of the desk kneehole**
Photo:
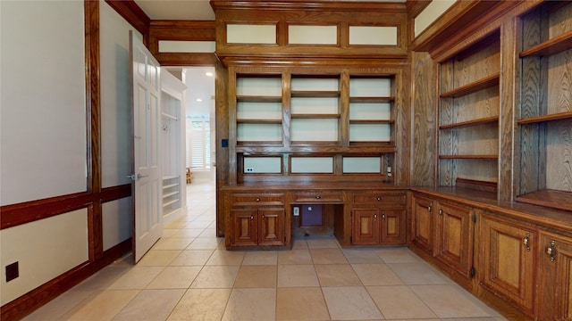
{"type": "Polygon", "coordinates": [[[352,210],[353,235],[352,242],[357,245],[379,244],[379,210],[352,210]]]}

